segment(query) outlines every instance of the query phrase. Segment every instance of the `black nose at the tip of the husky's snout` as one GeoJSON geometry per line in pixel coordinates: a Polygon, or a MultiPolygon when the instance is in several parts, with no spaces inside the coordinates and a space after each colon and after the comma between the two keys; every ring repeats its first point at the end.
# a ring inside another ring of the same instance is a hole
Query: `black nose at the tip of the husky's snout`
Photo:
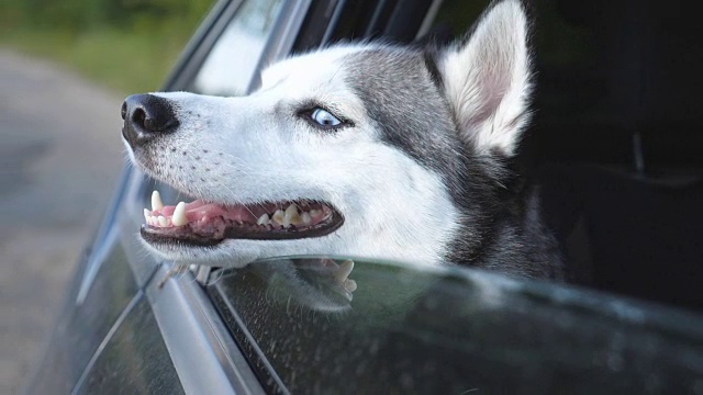
{"type": "Polygon", "coordinates": [[[129,97],[122,103],[122,135],[133,148],[178,127],[171,102],[153,94],[129,97]]]}

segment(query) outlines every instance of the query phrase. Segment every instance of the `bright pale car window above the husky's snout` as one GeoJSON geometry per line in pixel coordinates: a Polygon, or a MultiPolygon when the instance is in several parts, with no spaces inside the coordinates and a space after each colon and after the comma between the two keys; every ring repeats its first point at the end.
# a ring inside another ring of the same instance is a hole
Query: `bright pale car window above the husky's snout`
{"type": "Polygon", "coordinates": [[[208,55],[190,90],[213,95],[246,94],[282,3],[245,1],[208,55]]]}

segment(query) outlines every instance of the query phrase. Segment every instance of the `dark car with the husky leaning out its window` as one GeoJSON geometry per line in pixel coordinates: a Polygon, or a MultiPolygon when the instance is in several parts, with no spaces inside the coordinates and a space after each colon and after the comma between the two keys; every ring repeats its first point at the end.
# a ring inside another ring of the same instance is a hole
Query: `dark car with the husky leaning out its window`
{"type": "MultiPolygon", "coordinates": [[[[487,3],[224,0],[164,90],[246,94],[290,53],[449,40],[487,3]]],[[[174,262],[136,234],[169,189],[125,167],[29,392],[703,394],[698,18],[681,0],[531,5],[521,159],[576,284],[345,257],[163,281],[174,262]]]]}

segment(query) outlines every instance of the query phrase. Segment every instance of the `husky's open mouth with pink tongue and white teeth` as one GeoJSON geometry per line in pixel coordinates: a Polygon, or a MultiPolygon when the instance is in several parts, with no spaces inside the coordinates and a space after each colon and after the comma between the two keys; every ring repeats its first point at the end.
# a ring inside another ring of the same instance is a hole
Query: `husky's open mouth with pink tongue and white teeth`
{"type": "Polygon", "coordinates": [[[225,205],[194,200],[164,205],[158,191],[144,208],[148,242],[214,246],[225,239],[288,240],[325,236],[344,223],[326,203],[310,200],[225,205]]]}

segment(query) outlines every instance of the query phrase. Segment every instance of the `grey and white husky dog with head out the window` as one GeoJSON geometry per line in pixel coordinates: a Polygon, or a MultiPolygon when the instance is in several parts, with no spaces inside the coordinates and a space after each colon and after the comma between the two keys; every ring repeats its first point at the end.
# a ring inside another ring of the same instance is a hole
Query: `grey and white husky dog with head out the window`
{"type": "Polygon", "coordinates": [[[529,119],[527,27],[504,0],[446,47],[336,45],[268,67],[247,97],[127,98],[131,159],[193,199],[155,192],[145,245],[217,267],[325,255],[561,279],[506,165],[529,119]]]}

